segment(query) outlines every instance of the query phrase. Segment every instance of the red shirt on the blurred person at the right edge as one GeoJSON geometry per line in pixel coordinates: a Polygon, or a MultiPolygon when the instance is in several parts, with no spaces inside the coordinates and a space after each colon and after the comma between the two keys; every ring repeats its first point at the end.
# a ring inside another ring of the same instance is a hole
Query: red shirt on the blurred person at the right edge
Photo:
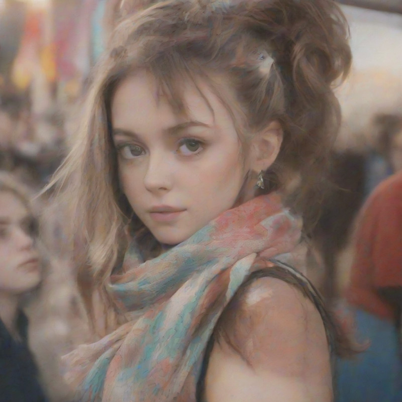
{"type": "Polygon", "coordinates": [[[349,302],[385,320],[398,320],[402,289],[402,172],[368,198],[356,233],[349,302]]]}

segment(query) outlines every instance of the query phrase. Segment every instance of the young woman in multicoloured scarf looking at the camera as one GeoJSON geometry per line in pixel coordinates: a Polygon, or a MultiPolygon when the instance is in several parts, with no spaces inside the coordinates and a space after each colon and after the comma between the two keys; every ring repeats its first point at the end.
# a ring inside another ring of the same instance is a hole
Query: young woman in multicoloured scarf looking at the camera
{"type": "Polygon", "coordinates": [[[66,357],[80,401],[332,400],[331,322],[280,261],[300,239],[290,209],[317,203],[346,36],[329,0],[170,0],[122,20],[55,178],[104,323],[66,357]]]}

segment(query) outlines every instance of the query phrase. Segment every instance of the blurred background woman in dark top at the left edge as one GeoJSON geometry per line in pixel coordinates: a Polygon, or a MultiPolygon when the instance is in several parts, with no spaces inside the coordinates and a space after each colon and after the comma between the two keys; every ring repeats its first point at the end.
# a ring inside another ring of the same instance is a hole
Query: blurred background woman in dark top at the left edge
{"type": "Polygon", "coordinates": [[[0,172],[0,399],[8,402],[47,400],[21,310],[23,295],[41,281],[37,224],[27,194],[12,176],[0,172]]]}

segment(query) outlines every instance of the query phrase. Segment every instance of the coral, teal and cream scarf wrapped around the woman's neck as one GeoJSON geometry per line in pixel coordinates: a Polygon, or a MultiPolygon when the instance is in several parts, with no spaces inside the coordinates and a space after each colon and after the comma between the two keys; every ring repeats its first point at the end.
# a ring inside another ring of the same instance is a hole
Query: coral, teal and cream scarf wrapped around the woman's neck
{"type": "Polygon", "coordinates": [[[270,194],[152,260],[131,245],[107,284],[129,321],[64,358],[78,400],[193,402],[207,342],[256,256],[290,252],[299,237],[299,220],[270,194]]]}

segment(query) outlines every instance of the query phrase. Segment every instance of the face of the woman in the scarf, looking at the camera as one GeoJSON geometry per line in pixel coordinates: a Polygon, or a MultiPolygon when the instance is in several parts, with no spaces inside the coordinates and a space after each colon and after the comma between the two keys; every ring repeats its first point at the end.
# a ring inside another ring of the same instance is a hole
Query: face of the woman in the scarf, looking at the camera
{"type": "Polygon", "coordinates": [[[184,92],[188,118],[157,96],[145,72],[112,99],[113,141],[122,188],[155,238],[181,243],[233,207],[248,170],[233,121],[206,85],[184,92]]]}

